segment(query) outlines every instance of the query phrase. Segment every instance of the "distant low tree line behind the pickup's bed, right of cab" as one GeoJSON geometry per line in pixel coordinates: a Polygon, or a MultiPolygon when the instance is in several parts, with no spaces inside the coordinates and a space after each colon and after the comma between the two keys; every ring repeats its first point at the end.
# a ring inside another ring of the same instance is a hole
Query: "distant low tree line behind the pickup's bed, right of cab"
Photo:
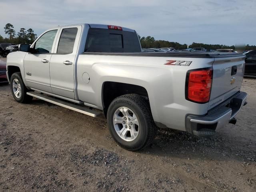
{"type": "MultiPolygon", "coordinates": [[[[140,37],[140,44],[142,48],[163,48],[163,47],[172,47],[175,49],[186,49],[187,44],[180,44],[178,42],[170,42],[165,40],[155,40],[154,37],[147,36],[147,37],[140,37]]],[[[235,46],[228,46],[228,45],[219,45],[219,44],[204,44],[204,43],[195,43],[193,42],[191,45],[189,45],[189,48],[195,48],[195,47],[202,47],[207,50],[216,50],[216,49],[235,49],[235,46]]],[[[256,50],[255,45],[249,45],[247,44],[245,47],[245,50],[256,50]]]]}

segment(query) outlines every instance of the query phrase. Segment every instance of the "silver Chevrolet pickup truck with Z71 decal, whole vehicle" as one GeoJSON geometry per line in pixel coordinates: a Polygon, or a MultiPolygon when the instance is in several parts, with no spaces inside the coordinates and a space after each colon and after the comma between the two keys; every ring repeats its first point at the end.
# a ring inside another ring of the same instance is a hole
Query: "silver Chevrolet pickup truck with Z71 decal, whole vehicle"
{"type": "Polygon", "coordinates": [[[83,114],[104,114],[127,150],[152,143],[156,127],[212,136],[246,104],[243,54],[141,52],[136,32],[99,24],[58,26],[8,54],[12,95],[83,114]]]}

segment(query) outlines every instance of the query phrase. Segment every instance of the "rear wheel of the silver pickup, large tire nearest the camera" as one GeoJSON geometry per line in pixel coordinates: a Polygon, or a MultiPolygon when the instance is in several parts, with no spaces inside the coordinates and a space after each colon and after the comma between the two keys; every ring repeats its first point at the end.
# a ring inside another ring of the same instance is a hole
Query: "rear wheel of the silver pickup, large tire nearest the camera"
{"type": "Polygon", "coordinates": [[[149,146],[156,134],[156,126],[149,103],[137,94],[115,98],[108,107],[108,128],[114,140],[130,151],[149,146]]]}

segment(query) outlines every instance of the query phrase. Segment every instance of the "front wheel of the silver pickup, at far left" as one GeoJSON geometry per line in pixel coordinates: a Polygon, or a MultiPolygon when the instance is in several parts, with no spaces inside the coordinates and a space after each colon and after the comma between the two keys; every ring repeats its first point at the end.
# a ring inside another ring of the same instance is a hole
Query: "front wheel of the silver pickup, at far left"
{"type": "Polygon", "coordinates": [[[12,74],[10,79],[10,87],[12,96],[19,103],[27,103],[32,100],[32,96],[27,95],[28,89],[26,88],[20,72],[12,74]]]}

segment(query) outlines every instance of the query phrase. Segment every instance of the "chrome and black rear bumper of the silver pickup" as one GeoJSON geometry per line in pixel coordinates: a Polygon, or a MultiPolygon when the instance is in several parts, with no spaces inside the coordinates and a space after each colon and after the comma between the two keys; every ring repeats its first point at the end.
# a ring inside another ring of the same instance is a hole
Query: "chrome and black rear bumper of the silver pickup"
{"type": "Polygon", "coordinates": [[[198,136],[214,135],[216,130],[228,124],[238,114],[242,106],[246,104],[246,98],[246,92],[238,92],[219,106],[208,111],[205,116],[188,115],[186,130],[198,136]]]}

